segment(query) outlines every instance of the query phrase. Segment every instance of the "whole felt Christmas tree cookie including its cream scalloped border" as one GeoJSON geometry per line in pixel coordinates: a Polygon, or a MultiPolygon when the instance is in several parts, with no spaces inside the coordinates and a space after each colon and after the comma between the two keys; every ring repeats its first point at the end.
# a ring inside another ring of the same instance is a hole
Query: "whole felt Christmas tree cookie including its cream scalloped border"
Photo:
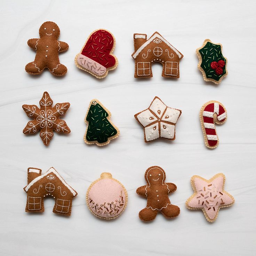
{"type": "Polygon", "coordinates": [[[110,122],[111,113],[97,99],[93,99],[85,117],[87,128],[83,137],[86,144],[104,146],[119,136],[119,129],[110,122]]]}

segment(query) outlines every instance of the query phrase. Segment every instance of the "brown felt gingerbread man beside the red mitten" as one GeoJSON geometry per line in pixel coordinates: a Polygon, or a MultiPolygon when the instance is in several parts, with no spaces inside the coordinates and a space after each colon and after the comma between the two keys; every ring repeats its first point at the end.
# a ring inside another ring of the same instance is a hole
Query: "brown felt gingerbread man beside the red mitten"
{"type": "Polygon", "coordinates": [[[62,76],[66,74],[66,66],[59,63],[59,53],[66,51],[69,45],[58,41],[59,33],[57,24],[47,21],[39,29],[40,38],[27,41],[29,47],[37,51],[35,60],[25,67],[27,73],[38,75],[47,68],[53,75],[62,76]]]}

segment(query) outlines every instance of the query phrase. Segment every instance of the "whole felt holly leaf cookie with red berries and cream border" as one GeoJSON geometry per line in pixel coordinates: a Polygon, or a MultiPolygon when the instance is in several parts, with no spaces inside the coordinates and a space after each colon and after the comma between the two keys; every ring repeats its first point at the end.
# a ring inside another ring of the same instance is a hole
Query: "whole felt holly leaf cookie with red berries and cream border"
{"type": "Polygon", "coordinates": [[[218,85],[227,75],[227,58],[222,55],[222,44],[206,39],[196,53],[199,58],[198,69],[203,74],[203,80],[218,85]]]}

